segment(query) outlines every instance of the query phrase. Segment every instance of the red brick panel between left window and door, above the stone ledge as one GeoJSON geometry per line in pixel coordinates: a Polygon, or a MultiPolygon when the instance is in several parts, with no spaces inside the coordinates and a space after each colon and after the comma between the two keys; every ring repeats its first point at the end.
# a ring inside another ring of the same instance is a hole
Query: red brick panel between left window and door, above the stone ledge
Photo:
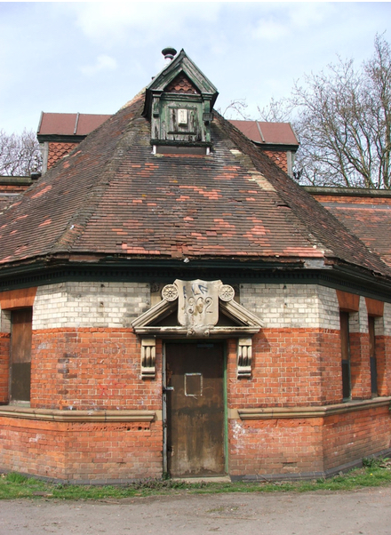
{"type": "Polygon", "coordinates": [[[162,351],[156,380],[140,379],[140,342],[132,329],[33,331],[31,407],[161,410],[162,351]]]}

